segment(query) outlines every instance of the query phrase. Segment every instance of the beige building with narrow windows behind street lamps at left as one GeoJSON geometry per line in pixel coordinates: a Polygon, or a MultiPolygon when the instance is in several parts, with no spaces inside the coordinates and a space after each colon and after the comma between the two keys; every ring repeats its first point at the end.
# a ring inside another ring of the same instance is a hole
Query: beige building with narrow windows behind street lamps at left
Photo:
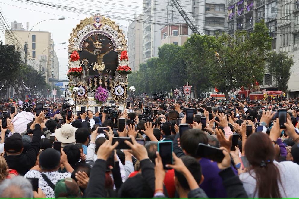
{"type": "MultiPolygon", "coordinates": [[[[14,26],[14,23],[11,23],[11,26],[14,26]]],[[[27,42],[28,39],[29,42],[28,42],[27,64],[31,65],[37,71],[40,70],[40,66],[44,66],[46,82],[49,82],[49,74],[47,72],[53,65],[53,58],[54,58],[54,54],[53,54],[54,47],[53,46],[49,47],[49,45],[53,44],[53,40],[51,40],[51,33],[44,32],[44,31],[31,31],[28,38],[29,31],[13,30],[13,33],[16,35],[18,39],[18,44],[16,44],[14,43],[14,41],[12,41],[9,38],[8,36],[9,31],[11,30],[5,30],[5,44],[19,46],[21,49],[22,60],[25,61],[24,44],[25,42],[27,42]],[[35,35],[35,42],[33,41],[32,35],[35,35]],[[32,49],[34,45],[35,45],[35,49],[32,49]],[[49,48],[47,49],[47,47],[49,48]],[[44,58],[44,62],[41,64],[40,61],[42,55],[44,58]]]]}

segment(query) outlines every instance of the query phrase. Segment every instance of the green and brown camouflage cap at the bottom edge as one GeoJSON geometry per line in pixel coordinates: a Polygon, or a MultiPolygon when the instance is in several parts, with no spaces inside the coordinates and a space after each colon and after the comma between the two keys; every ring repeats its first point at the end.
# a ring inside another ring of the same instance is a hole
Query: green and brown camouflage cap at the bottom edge
{"type": "Polygon", "coordinates": [[[72,178],[65,178],[59,180],[54,189],[55,198],[67,197],[77,198],[81,197],[81,190],[77,182],[72,178]]]}

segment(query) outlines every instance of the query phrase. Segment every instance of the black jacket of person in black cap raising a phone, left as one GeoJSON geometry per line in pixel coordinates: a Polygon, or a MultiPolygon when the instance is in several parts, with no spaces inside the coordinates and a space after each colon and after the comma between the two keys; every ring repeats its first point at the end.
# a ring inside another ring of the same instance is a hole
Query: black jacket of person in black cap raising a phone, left
{"type": "Polygon", "coordinates": [[[33,130],[33,138],[30,144],[30,148],[25,154],[20,155],[7,155],[5,153],[4,158],[7,162],[9,169],[15,169],[20,175],[24,176],[36,163],[38,152],[41,148],[40,136],[42,131],[40,125],[36,124],[33,130]]]}

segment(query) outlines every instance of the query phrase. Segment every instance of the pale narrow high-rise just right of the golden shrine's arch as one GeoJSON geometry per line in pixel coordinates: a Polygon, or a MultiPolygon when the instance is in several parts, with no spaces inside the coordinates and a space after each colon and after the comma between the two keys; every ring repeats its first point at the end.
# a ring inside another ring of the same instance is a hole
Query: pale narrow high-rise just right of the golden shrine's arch
{"type": "Polygon", "coordinates": [[[132,71],[139,70],[139,64],[142,62],[142,27],[143,23],[141,22],[141,15],[137,16],[129,25],[128,56],[129,66],[132,71]]]}

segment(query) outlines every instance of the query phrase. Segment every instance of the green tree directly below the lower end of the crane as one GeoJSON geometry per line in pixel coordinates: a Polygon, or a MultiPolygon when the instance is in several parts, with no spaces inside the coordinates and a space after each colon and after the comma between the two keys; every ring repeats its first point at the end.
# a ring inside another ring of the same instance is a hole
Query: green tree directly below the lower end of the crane
{"type": "Polygon", "coordinates": [[[193,86],[195,96],[198,92],[211,88],[210,62],[214,55],[215,37],[191,35],[181,51],[185,63],[185,82],[193,86]]]}

